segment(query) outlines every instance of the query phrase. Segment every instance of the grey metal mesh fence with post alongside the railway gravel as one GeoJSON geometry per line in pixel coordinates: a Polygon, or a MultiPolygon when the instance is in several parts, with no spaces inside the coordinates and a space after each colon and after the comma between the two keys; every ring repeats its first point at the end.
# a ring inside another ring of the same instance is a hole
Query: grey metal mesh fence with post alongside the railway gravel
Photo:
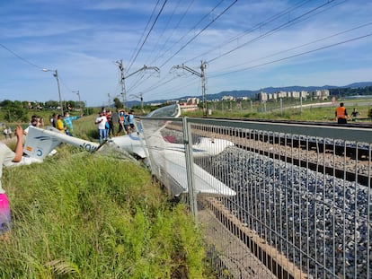
{"type": "Polygon", "coordinates": [[[142,120],[151,168],[217,277],[372,278],[371,130],[168,120],[142,120]]]}

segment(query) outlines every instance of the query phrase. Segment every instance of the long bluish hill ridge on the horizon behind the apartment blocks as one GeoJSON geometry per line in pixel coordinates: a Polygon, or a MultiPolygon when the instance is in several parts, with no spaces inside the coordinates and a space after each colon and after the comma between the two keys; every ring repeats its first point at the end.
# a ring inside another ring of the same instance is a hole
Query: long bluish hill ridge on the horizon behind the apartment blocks
{"type": "MultiPolygon", "coordinates": [[[[284,92],[293,92],[293,91],[314,92],[315,90],[323,90],[323,89],[337,89],[337,88],[356,89],[356,88],[364,88],[364,87],[368,87],[368,86],[372,86],[372,82],[351,83],[351,84],[344,85],[344,86],[335,86],[335,85],[297,86],[297,85],[293,85],[293,86],[285,86],[285,87],[265,87],[265,88],[262,88],[261,90],[255,90],[255,91],[252,91],[252,90],[233,90],[233,91],[223,91],[223,92],[219,92],[219,93],[216,93],[216,94],[210,94],[210,93],[207,92],[207,100],[217,100],[217,99],[220,100],[224,96],[233,96],[235,98],[237,98],[237,97],[254,98],[256,96],[256,94],[261,92],[261,91],[266,92],[266,93],[275,93],[275,92],[279,92],[279,91],[284,91],[284,92]]],[[[202,99],[202,96],[200,95],[200,96],[184,96],[182,98],[179,98],[179,100],[187,99],[187,98],[195,98],[195,97],[198,97],[200,100],[202,99]]],[[[152,100],[152,101],[147,101],[145,103],[146,104],[155,103],[155,102],[163,103],[165,101],[166,100],[152,100]]],[[[137,101],[137,100],[128,101],[128,107],[132,107],[132,106],[139,105],[139,104],[140,104],[140,102],[137,101]]]]}

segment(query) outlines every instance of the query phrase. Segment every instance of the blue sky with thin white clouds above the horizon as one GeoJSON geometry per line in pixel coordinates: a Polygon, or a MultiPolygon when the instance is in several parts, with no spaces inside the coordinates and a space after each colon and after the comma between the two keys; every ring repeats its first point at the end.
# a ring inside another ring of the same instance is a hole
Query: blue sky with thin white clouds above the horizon
{"type": "Polygon", "coordinates": [[[58,100],[43,68],[63,100],[122,100],[120,60],[127,100],[201,95],[201,61],[207,95],[369,82],[371,14],[365,0],[2,0],[0,100],[58,100]]]}

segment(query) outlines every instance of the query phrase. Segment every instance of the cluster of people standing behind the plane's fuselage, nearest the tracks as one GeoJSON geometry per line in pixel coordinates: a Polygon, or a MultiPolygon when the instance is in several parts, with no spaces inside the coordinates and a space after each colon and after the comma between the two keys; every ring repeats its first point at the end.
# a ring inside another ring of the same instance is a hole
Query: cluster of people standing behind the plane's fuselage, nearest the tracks
{"type": "Polygon", "coordinates": [[[119,135],[121,131],[125,131],[126,134],[129,134],[131,131],[135,131],[134,125],[134,115],[133,110],[130,110],[128,113],[124,109],[118,110],[118,133],[115,134],[115,126],[113,122],[112,111],[106,111],[105,108],[99,113],[99,116],[95,118],[94,124],[98,126],[98,140],[102,144],[110,136],[119,135]]]}

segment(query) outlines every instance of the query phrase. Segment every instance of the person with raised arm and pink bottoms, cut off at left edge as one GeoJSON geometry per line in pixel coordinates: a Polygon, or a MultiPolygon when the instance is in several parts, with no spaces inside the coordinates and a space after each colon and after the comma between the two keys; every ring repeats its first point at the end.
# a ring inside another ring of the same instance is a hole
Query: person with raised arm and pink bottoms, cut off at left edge
{"type": "Polygon", "coordinates": [[[0,143],[0,240],[8,239],[8,232],[11,222],[9,202],[2,187],[1,181],[1,178],[3,176],[3,166],[11,166],[13,162],[22,160],[22,126],[18,125],[15,128],[15,135],[17,137],[17,143],[15,145],[14,152],[6,144],[0,143]]]}

